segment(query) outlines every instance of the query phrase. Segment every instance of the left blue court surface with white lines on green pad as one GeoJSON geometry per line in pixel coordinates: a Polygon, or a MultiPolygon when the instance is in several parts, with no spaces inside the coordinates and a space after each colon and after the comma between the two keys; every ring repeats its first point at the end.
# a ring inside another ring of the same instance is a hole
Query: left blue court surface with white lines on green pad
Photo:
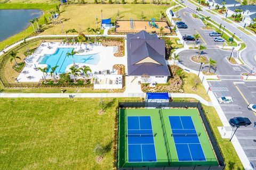
{"type": "Polygon", "coordinates": [[[150,116],[127,116],[128,162],[156,162],[150,116]]]}

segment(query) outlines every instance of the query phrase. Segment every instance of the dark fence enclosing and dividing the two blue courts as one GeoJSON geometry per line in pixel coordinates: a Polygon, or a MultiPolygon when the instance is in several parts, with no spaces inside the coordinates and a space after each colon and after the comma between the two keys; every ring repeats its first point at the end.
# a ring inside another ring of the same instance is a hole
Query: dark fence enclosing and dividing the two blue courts
{"type": "MultiPolygon", "coordinates": [[[[162,109],[167,109],[167,108],[197,108],[199,115],[202,118],[202,122],[204,123],[204,127],[205,130],[208,134],[208,137],[211,141],[215,156],[217,157],[218,166],[200,166],[200,165],[189,165],[189,166],[170,166],[170,149],[169,147],[166,146],[166,138],[164,139],[165,141],[165,148],[166,148],[166,152],[167,152],[167,162],[169,163],[169,166],[159,166],[159,167],[152,167],[152,166],[141,166],[141,167],[118,167],[118,162],[119,162],[119,157],[118,157],[118,150],[116,151],[116,169],[118,170],[223,170],[225,168],[225,162],[221,153],[221,150],[218,146],[217,140],[215,139],[211,126],[209,124],[209,122],[207,121],[207,118],[204,114],[204,110],[203,107],[201,105],[201,103],[197,100],[190,100],[190,101],[172,101],[172,102],[162,102],[162,109]]],[[[159,106],[159,102],[142,102],[142,101],[134,101],[134,100],[127,100],[127,101],[118,101],[118,112],[117,112],[117,117],[119,118],[119,109],[122,108],[157,108],[156,106],[159,106]]],[[[159,116],[160,116],[160,120],[161,122],[163,121],[162,119],[162,115],[161,115],[161,109],[159,109],[159,116]]],[[[117,122],[119,122],[117,118],[117,122]]],[[[164,124],[164,122],[162,122],[162,125],[164,124]]],[[[118,134],[119,134],[119,124],[117,123],[118,127],[117,127],[117,146],[118,146],[118,134]]],[[[165,129],[164,127],[162,127],[163,130],[163,134],[165,135],[165,129]]],[[[118,148],[118,147],[117,147],[118,148]]]]}

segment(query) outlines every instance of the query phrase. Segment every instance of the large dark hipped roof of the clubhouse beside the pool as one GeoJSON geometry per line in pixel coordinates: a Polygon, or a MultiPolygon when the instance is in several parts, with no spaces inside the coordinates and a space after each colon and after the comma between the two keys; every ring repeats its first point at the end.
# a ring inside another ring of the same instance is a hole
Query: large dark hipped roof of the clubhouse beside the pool
{"type": "Polygon", "coordinates": [[[156,34],[146,31],[127,34],[128,75],[170,76],[164,55],[164,40],[158,39],[156,34]]]}

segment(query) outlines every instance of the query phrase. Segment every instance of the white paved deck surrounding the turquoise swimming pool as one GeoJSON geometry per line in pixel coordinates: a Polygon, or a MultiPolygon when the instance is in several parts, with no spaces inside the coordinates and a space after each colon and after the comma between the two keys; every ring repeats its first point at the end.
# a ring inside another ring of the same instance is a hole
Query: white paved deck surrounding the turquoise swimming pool
{"type": "MultiPolygon", "coordinates": [[[[88,45],[87,45],[88,47],[88,45]]],[[[33,55],[28,56],[25,60],[26,66],[23,68],[21,73],[18,76],[19,82],[38,82],[43,77],[43,73],[37,69],[36,67],[46,67],[46,64],[39,64],[39,59],[41,56],[45,54],[53,54],[57,50],[57,48],[75,48],[75,51],[80,49],[80,45],[60,45],[60,43],[42,43],[37,52],[33,55]],[[49,48],[49,46],[51,48],[49,48]]],[[[85,45],[82,44],[82,48],[85,49],[85,45]]],[[[92,73],[99,72],[103,70],[110,70],[110,73],[113,72],[113,65],[115,64],[123,64],[126,65],[127,57],[115,57],[114,56],[114,47],[103,47],[102,45],[93,45],[91,50],[84,51],[83,53],[79,53],[76,55],[90,55],[99,53],[100,61],[97,65],[93,64],[84,64],[84,63],[76,63],[79,67],[84,65],[89,66],[92,70],[92,73]]],[[[69,64],[66,68],[65,72],[69,72],[69,67],[73,64],[69,64]]],[[[117,74],[117,73],[114,73],[117,74]]],[[[50,74],[47,75],[46,78],[51,78],[50,74]]]]}

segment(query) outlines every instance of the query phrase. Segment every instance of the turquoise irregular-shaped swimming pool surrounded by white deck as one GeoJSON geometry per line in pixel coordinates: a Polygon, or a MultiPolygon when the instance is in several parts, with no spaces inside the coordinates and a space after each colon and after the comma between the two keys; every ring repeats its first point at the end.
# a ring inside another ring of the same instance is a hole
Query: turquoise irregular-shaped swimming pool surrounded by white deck
{"type": "MultiPolygon", "coordinates": [[[[39,64],[47,64],[48,67],[54,67],[58,65],[56,72],[65,73],[65,70],[69,64],[73,63],[72,56],[67,56],[67,53],[71,53],[73,48],[57,48],[54,54],[45,54],[39,58],[39,64]]],[[[75,63],[85,63],[97,65],[100,61],[100,55],[90,54],[90,55],[74,55],[75,63]]],[[[48,69],[51,72],[51,69],[48,69]]]]}

